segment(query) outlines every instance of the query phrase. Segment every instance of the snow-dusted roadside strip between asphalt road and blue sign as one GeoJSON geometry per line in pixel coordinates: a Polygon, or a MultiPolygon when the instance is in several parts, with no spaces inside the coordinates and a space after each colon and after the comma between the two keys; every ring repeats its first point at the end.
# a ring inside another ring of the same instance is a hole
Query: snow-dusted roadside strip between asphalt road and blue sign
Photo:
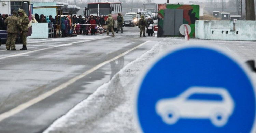
{"type": "Polygon", "coordinates": [[[108,83],[56,120],[44,133],[135,133],[132,117],[133,89],[138,75],[161,51],[182,44],[183,39],[157,43],[150,51],[126,65],[108,83]]]}

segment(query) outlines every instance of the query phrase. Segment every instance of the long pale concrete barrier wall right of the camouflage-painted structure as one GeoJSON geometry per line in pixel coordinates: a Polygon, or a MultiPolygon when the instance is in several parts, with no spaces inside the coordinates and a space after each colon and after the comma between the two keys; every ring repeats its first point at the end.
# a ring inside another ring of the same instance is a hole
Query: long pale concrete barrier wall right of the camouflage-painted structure
{"type": "Polygon", "coordinates": [[[198,20],[196,21],[195,37],[212,40],[256,40],[256,21],[198,20]]]}

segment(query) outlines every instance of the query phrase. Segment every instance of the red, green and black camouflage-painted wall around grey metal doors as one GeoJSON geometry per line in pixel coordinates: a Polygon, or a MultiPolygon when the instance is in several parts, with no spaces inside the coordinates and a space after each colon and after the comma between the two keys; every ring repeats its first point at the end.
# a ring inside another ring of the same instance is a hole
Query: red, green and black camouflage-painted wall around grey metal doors
{"type": "Polygon", "coordinates": [[[165,19],[165,9],[183,9],[183,24],[191,27],[190,37],[195,37],[195,22],[199,20],[199,5],[174,5],[174,4],[158,4],[158,37],[163,35],[163,20],[165,19]]]}

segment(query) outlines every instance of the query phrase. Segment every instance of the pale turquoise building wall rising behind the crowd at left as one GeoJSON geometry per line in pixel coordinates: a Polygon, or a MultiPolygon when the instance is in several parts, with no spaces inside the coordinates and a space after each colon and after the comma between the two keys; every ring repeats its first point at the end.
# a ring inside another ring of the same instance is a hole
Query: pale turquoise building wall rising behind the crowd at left
{"type": "MultiPolygon", "coordinates": [[[[37,6],[55,6],[56,2],[31,2],[33,4],[33,7],[37,6]]],[[[33,9],[33,14],[38,14],[39,16],[41,14],[44,14],[44,16],[49,17],[52,15],[54,18],[57,13],[56,13],[56,8],[41,8],[41,9],[33,9]]]]}

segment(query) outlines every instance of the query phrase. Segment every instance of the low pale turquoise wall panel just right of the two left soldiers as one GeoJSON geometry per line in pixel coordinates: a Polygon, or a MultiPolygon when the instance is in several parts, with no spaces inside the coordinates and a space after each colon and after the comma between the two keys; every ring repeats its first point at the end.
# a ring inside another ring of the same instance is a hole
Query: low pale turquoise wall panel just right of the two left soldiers
{"type": "Polygon", "coordinates": [[[27,39],[48,38],[48,23],[32,23],[32,34],[27,39]]]}

